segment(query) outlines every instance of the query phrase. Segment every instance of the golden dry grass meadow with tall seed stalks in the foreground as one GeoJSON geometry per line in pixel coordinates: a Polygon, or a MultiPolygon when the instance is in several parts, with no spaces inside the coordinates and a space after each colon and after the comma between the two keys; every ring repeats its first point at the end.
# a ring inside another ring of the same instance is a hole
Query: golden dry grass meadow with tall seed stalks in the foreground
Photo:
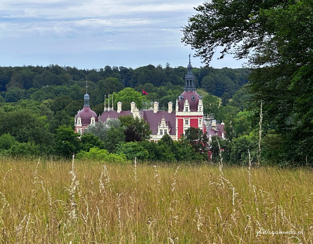
{"type": "Polygon", "coordinates": [[[313,242],[305,168],[0,163],[0,243],[313,242]]]}

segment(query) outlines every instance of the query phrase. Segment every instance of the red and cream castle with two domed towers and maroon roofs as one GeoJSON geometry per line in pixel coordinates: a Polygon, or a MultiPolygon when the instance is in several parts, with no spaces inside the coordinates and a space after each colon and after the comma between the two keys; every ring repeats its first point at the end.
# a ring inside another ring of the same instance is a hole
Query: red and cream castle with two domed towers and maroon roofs
{"type": "Polygon", "coordinates": [[[131,103],[130,111],[122,110],[122,103],[117,103],[115,111],[110,104],[104,109],[104,112],[98,117],[97,114],[90,109],[89,95],[84,96],[84,108],[75,116],[75,132],[82,134],[88,125],[94,125],[96,122],[105,122],[108,118],[116,118],[119,116],[132,115],[142,118],[150,125],[151,138],[150,141],[158,141],[163,135],[168,134],[173,140],[179,140],[181,135],[190,127],[199,128],[207,135],[211,141],[212,136],[218,135],[225,138],[224,123],[218,123],[214,120],[214,116],[203,114],[202,97],[196,92],[195,78],[192,74],[192,65],[187,66],[187,74],[185,76],[184,92],[176,99],[176,105],[173,110],[173,103],[168,103],[167,111],[159,110],[159,103],[151,103],[151,108],[139,110],[135,102],[131,103]]]}

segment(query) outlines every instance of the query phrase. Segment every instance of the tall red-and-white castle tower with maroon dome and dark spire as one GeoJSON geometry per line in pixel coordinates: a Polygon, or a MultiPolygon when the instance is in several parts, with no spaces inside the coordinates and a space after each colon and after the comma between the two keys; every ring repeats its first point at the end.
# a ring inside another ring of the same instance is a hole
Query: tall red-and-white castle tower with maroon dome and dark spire
{"type": "Polygon", "coordinates": [[[205,133],[203,127],[203,102],[202,97],[196,92],[195,78],[192,74],[192,65],[187,66],[185,76],[184,92],[176,100],[176,135],[180,139],[181,134],[190,127],[200,128],[205,133]]]}

